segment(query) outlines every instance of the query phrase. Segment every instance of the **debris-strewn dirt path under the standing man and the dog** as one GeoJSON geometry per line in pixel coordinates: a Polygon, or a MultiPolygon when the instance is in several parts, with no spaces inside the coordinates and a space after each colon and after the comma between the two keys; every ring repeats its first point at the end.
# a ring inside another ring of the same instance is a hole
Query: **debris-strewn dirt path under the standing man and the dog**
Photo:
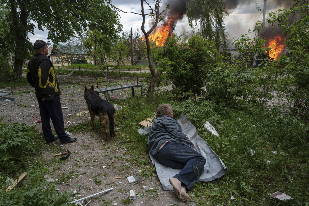
{"type": "MultiPolygon", "coordinates": [[[[59,78],[61,88],[61,105],[63,108],[64,123],[70,121],[71,125],[81,124],[90,121],[86,115],[78,116],[81,111],[87,110],[83,98],[84,86],[96,84],[93,77],[70,77],[59,78]],[[64,82],[75,82],[68,84],[64,82]],[[73,116],[75,116],[73,118],[73,116]]],[[[125,84],[136,80],[110,80],[110,84],[125,84]]],[[[2,88],[3,89],[3,88],[2,88]]],[[[6,88],[6,91],[13,90],[14,103],[5,104],[0,102],[0,118],[2,121],[13,123],[26,123],[35,125],[41,133],[41,124],[34,123],[40,120],[39,107],[31,86],[6,88]],[[28,92],[28,93],[27,93],[28,92]],[[39,117],[39,118],[36,118],[39,117]]],[[[131,89],[128,89],[128,93],[131,89]]],[[[3,92],[3,91],[2,91],[3,92]]],[[[125,95],[122,90],[116,90],[110,96],[122,99],[125,95]]],[[[116,117],[117,118],[117,117],[116,117]]],[[[70,124],[66,125],[66,128],[70,124]]],[[[76,199],[95,194],[113,188],[104,194],[96,196],[88,204],[91,205],[126,205],[125,199],[129,197],[130,189],[137,191],[136,200],[131,200],[127,205],[195,205],[195,202],[187,204],[177,200],[173,191],[164,191],[159,182],[157,174],[153,172],[150,158],[138,156],[134,151],[127,148],[125,137],[121,135],[118,128],[118,136],[105,142],[103,135],[97,132],[79,132],[72,134],[78,141],[72,144],[60,145],[59,141],[43,148],[43,155],[46,159],[46,166],[49,175],[54,179],[59,192],[76,191],[76,199]],[[71,155],[67,160],[57,160],[52,154],[70,150],[71,155]],[[142,165],[141,165],[142,163],[142,165]],[[138,166],[140,165],[140,166],[138,166]],[[126,177],[136,175],[139,179],[136,183],[129,183],[126,177]],[[113,179],[115,177],[122,179],[113,179]]],[[[42,139],[42,141],[44,141],[42,139]]],[[[37,157],[40,158],[40,157],[37,157]]],[[[85,205],[85,201],[83,205],[85,205]]]]}

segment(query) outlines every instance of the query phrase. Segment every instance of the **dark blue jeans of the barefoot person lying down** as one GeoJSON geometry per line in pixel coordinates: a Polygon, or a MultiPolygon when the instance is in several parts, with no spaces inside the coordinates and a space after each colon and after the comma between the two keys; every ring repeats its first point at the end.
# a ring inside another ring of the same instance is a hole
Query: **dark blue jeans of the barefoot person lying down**
{"type": "Polygon", "coordinates": [[[204,172],[206,159],[191,147],[176,141],[167,142],[158,153],[159,162],[173,169],[182,169],[174,177],[191,190],[204,172]]]}

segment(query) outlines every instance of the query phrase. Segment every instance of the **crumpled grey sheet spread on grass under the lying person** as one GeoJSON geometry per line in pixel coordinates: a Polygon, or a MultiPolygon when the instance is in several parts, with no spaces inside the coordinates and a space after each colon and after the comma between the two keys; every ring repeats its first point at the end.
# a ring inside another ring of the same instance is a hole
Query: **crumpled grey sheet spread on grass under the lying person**
{"type": "MultiPolygon", "coordinates": [[[[218,155],[210,148],[207,142],[198,135],[196,128],[193,124],[191,124],[190,120],[184,114],[181,114],[178,122],[181,125],[182,131],[185,132],[188,137],[190,137],[191,142],[195,146],[195,150],[206,158],[206,164],[204,165],[205,170],[204,173],[200,176],[199,181],[209,182],[225,174],[227,170],[226,166],[218,157],[218,155]]],[[[149,132],[150,128],[151,127],[138,129],[138,132],[141,135],[145,135],[149,132]]],[[[155,157],[153,157],[151,154],[149,155],[152,164],[155,165],[163,189],[173,190],[173,187],[168,180],[174,175],[178,174],[180,169],[172,169],[170,167],[163,166],[155,157]]]]}

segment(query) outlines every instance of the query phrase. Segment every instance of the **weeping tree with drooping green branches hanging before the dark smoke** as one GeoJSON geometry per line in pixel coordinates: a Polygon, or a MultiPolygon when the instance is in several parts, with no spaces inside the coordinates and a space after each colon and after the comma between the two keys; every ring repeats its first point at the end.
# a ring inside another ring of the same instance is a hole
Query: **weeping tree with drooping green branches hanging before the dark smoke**
{"type": "Polygon", "coordinates": [[[200,19],[201,35],[214,41],[218,51],[221,44],[226,49],[224,15],[228,15],[228,11],[223,0],[189,0],[186,6],[189,25],[193,27],[200,19]]]}

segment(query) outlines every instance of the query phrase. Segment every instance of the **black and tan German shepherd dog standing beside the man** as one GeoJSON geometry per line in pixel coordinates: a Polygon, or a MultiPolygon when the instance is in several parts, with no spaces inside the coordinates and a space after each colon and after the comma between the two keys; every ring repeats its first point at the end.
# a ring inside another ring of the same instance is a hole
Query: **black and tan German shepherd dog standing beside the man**
{"type": "Polygon", "coordinates": [[[111,103],[102,99],[99,96],[99,93],[93,90],[93,85],[90,89],[87,89],[85,86],[85,94],[84,98],[88,105],[88,111],[91,118],[91,128],[95,128],[95,115],[99,116],[100,122],[105,131],[105,141],[108,140],[108,132],[107,132],[107,124],[109,124],[109,133],[111,137],[114,135],[116,136],[117,133],[115,132],[115,108],[112,106],[111,103]]]}

